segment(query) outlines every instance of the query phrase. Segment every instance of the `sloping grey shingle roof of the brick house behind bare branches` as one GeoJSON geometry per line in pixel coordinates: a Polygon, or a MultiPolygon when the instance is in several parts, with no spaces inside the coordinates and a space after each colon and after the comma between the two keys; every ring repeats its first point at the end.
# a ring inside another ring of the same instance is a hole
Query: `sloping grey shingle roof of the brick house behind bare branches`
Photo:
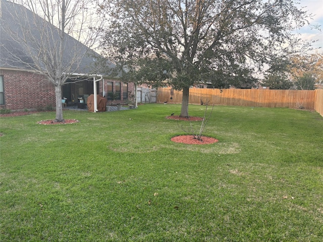
{"type": "MultiPolygon", "coordinates": [[[[33,70],[32,67],[35,66],[33,59],[30,54],[28,54],[27,48],[31,48],[37,51],[37,44],[41,43],[41,35],[37,31],[36,25],[34,23],[33,13],[26,9],[25,7],[11,2],[0,0],[0,68],[17,68],[23,70],[33,70]],[[19,17],[24,18],[23,21],[26,21],[26,26],[28,26],[34,41],[28,41],[27,45],[15,41],[13,38],[13,33],[18,34],[19,36],[23,35],[23,31],[17,24],[12,13],[18,11],[19,17]]],[[[46,23],[44,20],[36,16],[37,22],[46,23]]],[[[47,22],[46,30],[50,32],[53,36],[53,41],[49,44],[50,48],[53,48],[53,42],[59,39],[58,29],[52,25],[49,25],[47,22]]],[[[48,44],[48,41],[46,42],[48,44]]],[[[94,73],[95,62],[102,58],[98,53],[89,49],[81,42],[72,38],[70,35],[66,35],[65,41],[65,51],[63,54],[64,67],[72,66],[71,69],[65,69],[63,72],[68,73],[82,73],[89,74],[94,73]],[[74,51],[74,52],[73,52],[74,51]],[[77,52],[79,51],[79,52],[77,52]],[[76,63],[71,64],[72,56],[77,52],[79,60],[76,63]],[[84,55],[85,54],[85,55],[84,55]],[[82,56],[82,58],[80,57],[82,56]]],[[[45,70],[44,63],[40,63],[39,66],[45,70]]],[[[108,62],[110,68],[115,67],[111,62],[108,62]]],[[[95,71],[95,74],[106,74],[104,71],[95,71]]]]}

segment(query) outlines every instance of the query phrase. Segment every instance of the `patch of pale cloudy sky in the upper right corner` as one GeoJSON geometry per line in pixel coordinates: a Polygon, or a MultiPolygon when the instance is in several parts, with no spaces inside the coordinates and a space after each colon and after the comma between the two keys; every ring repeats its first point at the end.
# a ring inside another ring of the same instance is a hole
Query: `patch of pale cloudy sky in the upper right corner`
{"type": "Polygon", "coordinates": [[[315,15],[312,19],[309,19],[309,22],[319,24],[321,31],[304,26],[298,33],[301,34],[301,38],[304,40],[318,40],[313,46],[321,47],[317,51],[323,53],[323,0],[300,0],[300,6],[306,6],[305,10],[315,15]]]}

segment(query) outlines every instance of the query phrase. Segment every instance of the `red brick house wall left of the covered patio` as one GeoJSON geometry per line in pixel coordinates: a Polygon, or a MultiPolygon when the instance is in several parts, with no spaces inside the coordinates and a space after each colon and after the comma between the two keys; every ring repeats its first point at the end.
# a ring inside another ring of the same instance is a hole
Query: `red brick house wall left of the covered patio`
{"type": "Polygon", "coordinates": [[[42,75],[24,72],[0,70],[4,80],[5,105],[0,109],[30,109],[56,106],[55,88],[42,75]]]}

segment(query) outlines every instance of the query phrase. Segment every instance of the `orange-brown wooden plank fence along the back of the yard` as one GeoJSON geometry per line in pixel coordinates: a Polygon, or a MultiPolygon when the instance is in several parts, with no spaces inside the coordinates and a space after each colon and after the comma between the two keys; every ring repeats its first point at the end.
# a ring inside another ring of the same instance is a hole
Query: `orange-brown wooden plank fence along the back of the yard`
{"type": "MultiPolygon", "coordinates": [[[[157,90],[157,102],[181,103],[182,91],[157,90]]],[[[323,90],[209,89],[190,88],[189,103],[215,105],[289,107],[314,109],[323,113],[323,90]],[[320,111],[319,111],[320,110],[320,111]]]]}

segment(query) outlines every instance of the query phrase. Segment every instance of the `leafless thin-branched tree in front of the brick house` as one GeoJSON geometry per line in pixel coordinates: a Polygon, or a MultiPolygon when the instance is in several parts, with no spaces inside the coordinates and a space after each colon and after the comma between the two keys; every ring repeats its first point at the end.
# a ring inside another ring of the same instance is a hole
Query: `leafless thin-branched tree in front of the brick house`
{"type": "Polygon", "coordinates": [[[5,49],[6,65],[49,80],[55,86],[56,121],[64,122],[62,86],[72,74],[88,68],[82,67],[82,59],[93,54],[90,48],[96,44],[103,19],[91,0],[1,1],[1,28],[7,34],[2,41],[11,41],[5,49]]]}

